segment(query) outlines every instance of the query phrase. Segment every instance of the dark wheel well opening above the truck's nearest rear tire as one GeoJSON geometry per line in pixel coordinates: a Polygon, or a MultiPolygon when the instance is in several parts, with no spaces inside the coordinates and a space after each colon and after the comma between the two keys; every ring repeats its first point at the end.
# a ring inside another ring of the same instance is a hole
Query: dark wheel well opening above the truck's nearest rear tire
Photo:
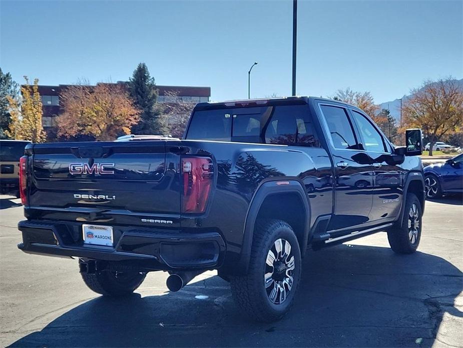
{"type": "Polygon", "coordinates": [[[305,205],[297,193],[268,195],[259,208],[257,219],[278,219],[288,223],[296,234],[301,253],[305,251],[304,232],[306,219],[305,205]]]}

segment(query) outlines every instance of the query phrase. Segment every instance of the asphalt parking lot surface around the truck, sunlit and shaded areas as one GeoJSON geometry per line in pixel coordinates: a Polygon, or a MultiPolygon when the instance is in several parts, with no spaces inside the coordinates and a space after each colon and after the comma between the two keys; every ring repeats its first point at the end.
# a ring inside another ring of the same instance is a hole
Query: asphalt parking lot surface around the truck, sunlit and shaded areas
{"type": "Polygon", "coordinates": [[[215,272],[178,293],[155,272],[128,298],[99,296],[77,260],[17,249],[19,201],[0,196],[1,346],[463,346],[461,197],[426,203],[413,255],[384,233],[310,252],[295,306],[273,324],[244,320],[215,272]]]}

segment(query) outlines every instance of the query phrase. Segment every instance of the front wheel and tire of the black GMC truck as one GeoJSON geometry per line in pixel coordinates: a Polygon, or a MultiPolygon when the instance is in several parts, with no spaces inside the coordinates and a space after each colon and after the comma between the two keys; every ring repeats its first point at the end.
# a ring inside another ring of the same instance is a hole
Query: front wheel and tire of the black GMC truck
{"type": "Polygon", "coordinates": [[[406,197],[401,224],[387,231],[389,245],[397,254],[415,252],[421,238],[421,204],[412,193],[408,193],[406,197]]]}

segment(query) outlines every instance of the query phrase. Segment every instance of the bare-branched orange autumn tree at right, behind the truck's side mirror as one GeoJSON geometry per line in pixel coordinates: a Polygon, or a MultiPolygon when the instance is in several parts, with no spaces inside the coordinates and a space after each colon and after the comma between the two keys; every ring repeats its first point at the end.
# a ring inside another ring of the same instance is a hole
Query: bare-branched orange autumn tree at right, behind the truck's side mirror
{"type": "Polygon", "coordinates": [[[463,127],[463,89],[451,79],[425,81],[411,91],[402,106],[405,125],[421,128],[429,137],[429,155],[443,135],[463,127]]]}

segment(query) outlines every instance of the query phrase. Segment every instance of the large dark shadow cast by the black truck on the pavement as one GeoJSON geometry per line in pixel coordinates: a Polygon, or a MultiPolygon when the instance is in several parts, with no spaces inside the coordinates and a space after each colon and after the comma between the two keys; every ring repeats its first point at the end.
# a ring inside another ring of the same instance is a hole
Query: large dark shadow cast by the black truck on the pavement
{"type": "MultiPolygon", "coordinates": [[[[462,273],[440,257],[340,245],[309,252],[302,277],[296,303],[276,323],[246,321],[233,304],[228,283],[215,276],[178,293],[134,294],[119,300],[97,297],[12,346],[416,347],[431,346],[436,339],[461,343],[445,336],[456,326],[435,338],[444,313],[456,321],[463,316],[454,306],[463,290],[462,273]]],[[[148,289],[142,284],[142,292],[148,289]]]]}

